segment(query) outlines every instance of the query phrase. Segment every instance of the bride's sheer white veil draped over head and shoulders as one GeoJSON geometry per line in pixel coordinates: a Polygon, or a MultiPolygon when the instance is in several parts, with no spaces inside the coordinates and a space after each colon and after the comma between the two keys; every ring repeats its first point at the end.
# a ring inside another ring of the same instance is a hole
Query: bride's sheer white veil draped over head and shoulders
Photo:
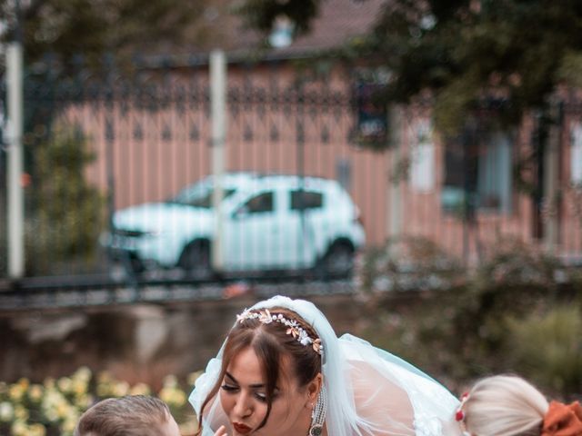
{"type": "MultiPolygon", "coordinates": [[[[337,338],[326,316],[305,300],[276,296],[251,310],[284,307],[310,323],[324,345],[322,373],[327,390],[329,436],[443,436],[443,423],[457,408],[457,399],[437,381],[402,359],[352,335],[337,338]]],[[[224,344],[190,395],[199,416],[215,385],[224,344]]],[[[220,401],[206,406],[203,436],[214,435],[226,417],[220,401]]]]}

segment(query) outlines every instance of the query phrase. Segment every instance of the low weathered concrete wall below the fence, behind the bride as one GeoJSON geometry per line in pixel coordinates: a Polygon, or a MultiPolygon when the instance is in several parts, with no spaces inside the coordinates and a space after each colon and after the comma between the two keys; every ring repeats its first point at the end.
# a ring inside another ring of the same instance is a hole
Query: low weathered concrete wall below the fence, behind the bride
{"type": "MultiPolygon", "coordinates": [[[[204,369],[251,297],[217,302],[132,305],[0,314],[0,381],[69,375],[81,365],[120,380],[159,386],[167,374],[204,369]]],[[[314,302],[336,332],[354,332],[363,306],[351,297],[314,302]]]]}

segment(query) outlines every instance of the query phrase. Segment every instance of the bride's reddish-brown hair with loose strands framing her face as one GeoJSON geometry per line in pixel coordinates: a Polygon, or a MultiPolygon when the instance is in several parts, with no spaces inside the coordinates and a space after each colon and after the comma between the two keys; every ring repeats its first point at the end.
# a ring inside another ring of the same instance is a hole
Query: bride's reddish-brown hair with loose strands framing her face
{"type": "MultiPolygon", "coordinates": [[[[253,312],[262,311],[256,310],[253,312]]],[[[269,308],[269,312],[272,315],[281,314],[289,321],[295,320],[311,338],[314,340],[318,338],[313,327],[296,312],[281,307],[269,308]]],[[[273,404],[273,392],[276,388],[276,381],[279,379],[281,360],[284,357],[290,359],[293,374],[289,375],[296,377],[300,387],[306,386],[321,372],[321,356],[319,353],[315,352],[311,346],[298,342],[293,334],[287,334],[286,325],[280,322],[263,323],[257,319],[245,319],[243,322],[236,322],[236,325],[226,337],[218,380],[202,403],[200,417],[204,415],[208,402],[215,398],[220,389],[228,364],[239,352],[249,347],[256,353],[266,380],[266,415],[258,428],[264,427],[269,418],[273,404]]],[[[198,421],[200,422],[200,428],[196,434],[200,435],[202,433],[202,419],[199,418],[198,421]]]]}

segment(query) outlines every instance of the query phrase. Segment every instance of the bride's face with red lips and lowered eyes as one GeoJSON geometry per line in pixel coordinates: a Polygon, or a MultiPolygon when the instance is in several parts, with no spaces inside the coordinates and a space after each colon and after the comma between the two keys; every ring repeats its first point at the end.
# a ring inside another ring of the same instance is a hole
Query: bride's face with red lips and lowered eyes
{"type": "Polygon", "coordinates": [[[220,402],[234,436],[307,434],[311,398],[306,387],[298,386],[288,359],[283,359],[273,392],[271,412],[265,426],[266,380],[252,348],[239,352],[228,364],[220,389],[220,402]]]}

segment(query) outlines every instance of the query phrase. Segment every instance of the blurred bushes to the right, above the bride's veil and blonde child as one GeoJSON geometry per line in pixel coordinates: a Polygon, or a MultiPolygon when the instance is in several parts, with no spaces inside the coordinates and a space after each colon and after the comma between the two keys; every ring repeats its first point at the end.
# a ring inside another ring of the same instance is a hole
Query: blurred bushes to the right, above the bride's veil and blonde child
{"type": "Polygon", "coordinates": [[[371,311],[362,330],[366,339],[457,392],[481,376],[516,372],[548,395],[579,396],[582,281],[577,269],[517,242],[499,243],[470,271],[430,243],[410,245],[428,249],[386,258],[387,248],[361,260],[360,292],[371,311]],[[386,281],[393,287],[386,289],[386,281]]]}

